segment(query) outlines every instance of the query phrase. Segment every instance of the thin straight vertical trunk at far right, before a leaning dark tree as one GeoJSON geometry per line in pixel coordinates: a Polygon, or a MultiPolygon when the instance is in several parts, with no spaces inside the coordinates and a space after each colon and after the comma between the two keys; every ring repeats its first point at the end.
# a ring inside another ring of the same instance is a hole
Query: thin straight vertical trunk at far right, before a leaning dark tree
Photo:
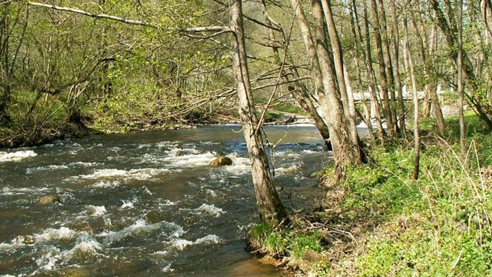
{"type": "Polygon", "coordinates": [[[456,67],[458,69],[458,106],[460,113],[460,150],[461,158],[464,160],[466,155],[465,134],[464,134],[464,115],[463,115],[463,0],[458,0],[458,12],[456,25],[458,27],[458,59],[456,67]]]}

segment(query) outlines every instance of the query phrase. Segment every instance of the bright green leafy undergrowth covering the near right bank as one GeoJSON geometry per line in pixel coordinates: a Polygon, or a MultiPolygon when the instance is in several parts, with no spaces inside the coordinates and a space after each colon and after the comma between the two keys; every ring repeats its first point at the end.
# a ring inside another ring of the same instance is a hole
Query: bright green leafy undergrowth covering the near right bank
{"type": "MultiPolygon", "coordinates": [[[[485,156],[481,152],[491,148],[491,142],[490,136],[473,137],[477,150],[472,151],[471,160],[490,164],[490,151],[484,151],[485,156]]],[[[411,151],[396,147],[372,152],[372,172],[350,170],[345,208],[362,210],[354,217],[374,219],[377,214],[377,222],[384,226],[370,238],[358,260],[361,276],[492,274],[488,219],[492,193],[480,189],[483,177],[478,175],[484,165],[479,168],[475,162],[463,168],[456,153],[456,145],[427,145],[418,182],[406,174],[411,172],[411,151]],[[381,169],[391,173],[381,173],[381,169]]]]}

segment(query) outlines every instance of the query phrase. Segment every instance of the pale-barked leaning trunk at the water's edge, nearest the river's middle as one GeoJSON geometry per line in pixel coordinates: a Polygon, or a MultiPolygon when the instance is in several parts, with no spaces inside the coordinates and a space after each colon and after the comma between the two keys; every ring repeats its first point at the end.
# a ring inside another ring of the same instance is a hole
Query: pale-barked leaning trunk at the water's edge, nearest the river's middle
{"type": "Polygon", "coordinates": [[[232,69],[236,80],[239,115],[246,139],[249,160],[251,161],[251,175],[256,195],[256,205],[262,221],[273,226],[278,224],[287,214],[273,184],[263,139],[257,128],[258,118],[256,117],[246,61],[241,0],[229,1],[229,13],[231,17],[229,28],[232,31],[232,69]]]}

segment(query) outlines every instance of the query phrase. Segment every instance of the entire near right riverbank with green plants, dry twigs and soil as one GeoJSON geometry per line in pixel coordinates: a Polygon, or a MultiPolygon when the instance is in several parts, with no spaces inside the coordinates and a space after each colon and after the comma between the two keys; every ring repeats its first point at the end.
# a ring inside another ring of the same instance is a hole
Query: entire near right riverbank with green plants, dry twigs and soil
{"type": "Polygon", "coordinates": [[[467,164],[456,117],[446,139],[423,138],[418,181],[411,141],[374,146],[340,183],[325,169],[316,208],[289,226],[254,227],[251,246],[296,276],[491,275],[492,138],[476,116],[466,122],[467,164]]]}

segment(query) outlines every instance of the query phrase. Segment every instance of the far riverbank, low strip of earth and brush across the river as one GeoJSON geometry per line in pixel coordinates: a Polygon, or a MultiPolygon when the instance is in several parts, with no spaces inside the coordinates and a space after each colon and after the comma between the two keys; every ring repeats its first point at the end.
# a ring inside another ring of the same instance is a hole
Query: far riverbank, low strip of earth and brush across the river
{"type": "MultiPolygon", "coordinates": [[[[0,149],[39,146],[59,139],[81,138],[89,135],[194,129],[197,126],[209,124],[240,122],[240,119],[236,118],[234,114],[215,114],[213,117],[198,112],[193,114],[193,116],[190,115],[183,120],[146,120],[140,118],[133,122],[110,120],[102,115],[80,117],[76,123],[59,119],[48,120],[41,124],[15,120],[14,118],[10,122],[0,122],[0,149]]],[[[305,115],[282,110],[267,112],[264,121],[265,125],[312,123],[312,120],[305,115]]]]}

